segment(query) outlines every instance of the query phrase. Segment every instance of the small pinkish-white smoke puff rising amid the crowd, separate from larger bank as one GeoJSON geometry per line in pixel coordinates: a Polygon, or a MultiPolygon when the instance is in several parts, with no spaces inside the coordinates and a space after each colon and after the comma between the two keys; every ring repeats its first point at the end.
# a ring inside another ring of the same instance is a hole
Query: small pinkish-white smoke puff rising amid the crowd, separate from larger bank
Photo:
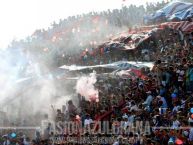
{"type": "Polygon", "coordinates": [[[99,101],[99,92],[95,88],[96,73],[81,77],[76,84],[76,92],[84,96],[87,101],[99,101]]]}

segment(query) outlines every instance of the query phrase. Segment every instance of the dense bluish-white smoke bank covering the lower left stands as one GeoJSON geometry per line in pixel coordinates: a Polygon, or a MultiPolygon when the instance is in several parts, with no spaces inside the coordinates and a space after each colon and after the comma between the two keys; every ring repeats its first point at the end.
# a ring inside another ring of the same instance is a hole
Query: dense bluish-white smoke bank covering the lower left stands
{"type": "Polygon", "coordinates": [[[69,94],[73,90],[69,88],[75,82],[57,79],[38,59],[23,59],[12,51],[0,52],[0,56],[0,112],[6,113],[9,123],[25,120],[28,125],[38,125],[45,114],[52,119],[56,109],[72,99],[69,94]],[[29,61],[31,64],[26,65],[29,61]],[[32,66],[31,73],[23,66],[32,66]]]}

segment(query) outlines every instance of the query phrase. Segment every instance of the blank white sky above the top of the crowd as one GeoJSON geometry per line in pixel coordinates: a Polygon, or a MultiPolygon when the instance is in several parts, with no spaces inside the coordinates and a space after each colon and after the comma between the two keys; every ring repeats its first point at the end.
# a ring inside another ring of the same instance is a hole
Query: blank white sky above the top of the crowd
{"type": "Polygon", "coordinates": [[[22,39],[36,29],[47,29],[53,21],[67,16],[102,11],[129,4],[162,0],[2,0],[0,2],[0,48],[22,39]]]}

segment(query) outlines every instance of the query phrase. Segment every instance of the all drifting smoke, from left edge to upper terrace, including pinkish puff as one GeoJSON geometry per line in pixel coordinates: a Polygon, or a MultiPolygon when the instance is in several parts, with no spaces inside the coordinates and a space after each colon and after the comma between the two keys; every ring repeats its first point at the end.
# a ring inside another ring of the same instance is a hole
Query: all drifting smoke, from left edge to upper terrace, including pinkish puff
{"type": "Polygon", "coordinates": [[[29,39],[15,41],[7,52],[0,53],[0,111],[6,112],[10,121],[38,123],[44,114],[53,116],[53,111],[68,100],[76,100],[76,93],[88,101],[99,101],[94,87],[96,74],[80,76],[77,83],[56,79],[52,74],[67,64],[65,56],[79,58],[82,50],[95,48],[127,29],[111,25],[105,18],[92,21],[93,17],[88,16],[69,26],[58,25],[29,39]]]}

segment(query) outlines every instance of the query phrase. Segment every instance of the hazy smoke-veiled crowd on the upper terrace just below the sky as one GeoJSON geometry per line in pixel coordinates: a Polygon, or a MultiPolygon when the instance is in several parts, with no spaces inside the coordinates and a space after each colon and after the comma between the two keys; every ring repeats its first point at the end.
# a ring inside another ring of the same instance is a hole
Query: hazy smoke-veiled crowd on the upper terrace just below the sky
{"type": "Polygon", "coordinates": [[[37,60],[35,63],[44,62],[46,66],[56,68],[73,57],[80,57],[80,50],[95,48],[117,33],[141,26],[144,14],[165,4],[147,4],[147,9],[145,6],[124,5],[121,9],[70,16],[54,22],[47,30],[35,31],[25,40],[13,41],[9,49],[18,48],[30,54],[31,61],[37,60]]]}

